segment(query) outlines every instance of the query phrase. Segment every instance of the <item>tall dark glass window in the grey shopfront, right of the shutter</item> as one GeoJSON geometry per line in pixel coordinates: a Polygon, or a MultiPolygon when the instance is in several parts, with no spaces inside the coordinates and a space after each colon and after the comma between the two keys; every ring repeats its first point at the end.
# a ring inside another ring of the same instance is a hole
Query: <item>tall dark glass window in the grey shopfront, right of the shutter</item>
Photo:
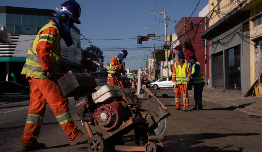
{"type": "Polygon", "coordinates": [[[227,52],[227,86],[228,90],[241,90],[241,73],[240,73],[240,53],[241,46],[235,46],[231,49],[226,50],[227,52]]]}

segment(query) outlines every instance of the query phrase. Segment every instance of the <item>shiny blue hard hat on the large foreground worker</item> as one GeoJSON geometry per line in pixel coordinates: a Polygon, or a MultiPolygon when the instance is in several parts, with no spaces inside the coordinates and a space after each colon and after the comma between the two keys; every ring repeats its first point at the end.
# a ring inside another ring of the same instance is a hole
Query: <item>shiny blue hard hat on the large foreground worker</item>
{"type": "Polygon", "coordinates": [[[73,1],[73,0],[68,0],[66,2],[64,2],[62,5],[62,8],[61,9],[58,9],[58,13],[57,14],[61,14],[62,17],[65,17],[63,19],[60,19],[60,21],[63,23],[63,22],[67,22],[69,21],[69,19],[73,19],[75,21],[76,24],[80,24],[80,20],[79,20],[79,17],[81,15],[81,7],[80,5],[73,1]]]}

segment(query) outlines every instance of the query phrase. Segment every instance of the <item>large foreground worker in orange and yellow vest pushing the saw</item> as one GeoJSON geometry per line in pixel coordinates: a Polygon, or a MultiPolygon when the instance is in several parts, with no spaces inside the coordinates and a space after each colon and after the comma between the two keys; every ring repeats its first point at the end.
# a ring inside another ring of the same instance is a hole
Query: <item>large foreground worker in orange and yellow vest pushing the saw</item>
{"type": "Polygon", "coordinates": [[[61,37],[72,45],[70,28],[74,23],[80,24],[81,8],[75,1],[66,1],[56,13],[53,20],[40,29],[27,54],[22,75],[30,84],[30,104],[22,136],[21,150],[31,151],[44,149],[44,143],[38,143],[42,121],[45,115],[46,101],[53,111],[58,123],[67,134],[70,145],[88,140],[81,130],[77,129],[68,108],[68,98],[62,95],[55,76],[56,72],[67,73],[69,68],[60,56],[61,37]]]}

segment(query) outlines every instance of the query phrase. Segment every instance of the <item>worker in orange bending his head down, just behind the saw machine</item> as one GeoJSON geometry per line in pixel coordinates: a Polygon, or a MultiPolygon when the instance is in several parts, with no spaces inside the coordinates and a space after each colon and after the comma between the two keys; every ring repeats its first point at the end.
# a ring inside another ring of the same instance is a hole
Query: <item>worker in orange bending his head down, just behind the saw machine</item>
{"type": "MultiPolygon", "coordinates": [[[[124,90],[124,85],[123,85],[123,80],[122,80],[122,77],[121,77],[121,72],[123,74],[127,73],[127,70],[123,69],[124,66],[125,66],[125,63],[123,62],[124,58],[127,58],[127,50],[122,50],[117,56],[114,56],[114,57],[111,58],[109,73],[108,73],[108,76],[107,76],[107,84],[108,85],[117,85],[118,86],[116,79],[114,77],[112,77],[112,74],[117,72],[117,77],[118,77],[118,80],[119,80],[123,90],[124,90]]],[[[123,97],[123,99],[125,100],[124,97],[123,97]]]]}

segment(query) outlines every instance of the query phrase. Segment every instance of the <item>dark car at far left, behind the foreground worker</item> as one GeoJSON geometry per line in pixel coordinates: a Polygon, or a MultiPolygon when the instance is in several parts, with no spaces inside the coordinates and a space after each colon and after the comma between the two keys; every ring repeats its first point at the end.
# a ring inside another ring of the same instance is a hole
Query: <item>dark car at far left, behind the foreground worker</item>
{"type": "Polygon", "coordinates": [[[5,94],[5,93],[26,94],[29,92],[30,92],[30,86],[20,85],[14,81],[0,82],[0,94],[5,94]]]}

